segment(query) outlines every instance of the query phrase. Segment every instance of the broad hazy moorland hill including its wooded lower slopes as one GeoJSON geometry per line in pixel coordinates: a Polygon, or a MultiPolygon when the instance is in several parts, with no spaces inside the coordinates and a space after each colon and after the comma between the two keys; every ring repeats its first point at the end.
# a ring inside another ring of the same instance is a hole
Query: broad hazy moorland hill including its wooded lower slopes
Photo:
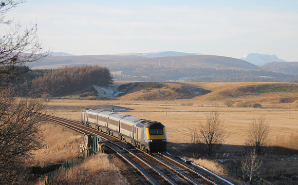
{"type": "Polygon", "coordinates": [[[50,56],[32,69],[58,69],[73,66],[104,66],[115,80],[130,81],[291,81],[297,76],[263,70],[248,61],[216,55],[190,53],[149,53],[132,55],[50,56]],[[159,55],[179,55],[151,57],[159,55]],[[180,56],[182,55],[182,56],[180,56]],[[146,58],[147,57],[147,58],[146,58]]]}

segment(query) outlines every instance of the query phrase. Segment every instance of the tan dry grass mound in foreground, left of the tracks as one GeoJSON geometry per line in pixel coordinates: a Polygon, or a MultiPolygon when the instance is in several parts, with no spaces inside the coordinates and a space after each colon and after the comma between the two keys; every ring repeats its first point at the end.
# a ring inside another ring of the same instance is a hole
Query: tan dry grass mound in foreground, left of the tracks
{"type": "MultiPolygon", "coordinates": [[[[44,179],[36,183],[38,184],[44,184],[44,179]]],[[[53,184],[127,184],[127,181],[109,162],[106,154],[97,154],[79,166],[59,173],[53,184]]]]}

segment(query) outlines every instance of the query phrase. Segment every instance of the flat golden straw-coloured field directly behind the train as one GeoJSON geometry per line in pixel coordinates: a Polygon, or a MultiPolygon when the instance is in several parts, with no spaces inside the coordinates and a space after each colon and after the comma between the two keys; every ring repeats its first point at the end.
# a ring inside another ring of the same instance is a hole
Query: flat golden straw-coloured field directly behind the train
{"type": "MultiPolygon", "coordinates": [[[[195,83],[194,83],[195,84],[195,83]]],[[[239,86],[243,83],[198,83],[205,89],[224,89],[239,86]]],[[[255,84],[255,83],[249,83],[255,84]]],[[[247,84],[246,84],[247,85],[247,84]]],[[[206,120],[206,113],[217,111],[226,127],[229,135],[226,145],[241,146],[246,139],[246,132],[253,118],[260,115],[266,116],[266,122],[270,123],[270,139],[274,145],[276,140],[287,138],[291,134],[298,133],[298,109],[290,108],[289,103],[260,102],[262,108],[239,108],[235,105],[227,107],[222,100],[209,100],[206,94],[193,99],[160,100],[160,101],[136,101],[136,100],[79,100],[79,99],[53,99],[48,102],[48,107],[54,115],[80,120],[80,111],[86,107],[94,109],[105,108],[103,105],[124,107],[128,112],[120,112],[140,118],[159,121],[166,126],[169,142],[190,142],[189,129],[196,128],[199,122],[206,120]],[[202,100],[201,100],[202,99],[202,100]]],[[[233,99],[234,101],[252,101],[272,95],[246,96],[233,99]],[[245,98],[245,99],[244,99],[245,98]]],[[[283,96],[283,95],[280,95],[283,96]]]]}

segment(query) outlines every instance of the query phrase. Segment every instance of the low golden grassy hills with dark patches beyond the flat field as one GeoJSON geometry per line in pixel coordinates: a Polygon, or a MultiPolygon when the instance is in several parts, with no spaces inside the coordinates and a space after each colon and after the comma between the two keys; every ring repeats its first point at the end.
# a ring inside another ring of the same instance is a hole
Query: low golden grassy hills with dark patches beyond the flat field
{"type": "MultiPolygon", "coordinates": [[[[131,87],[121,93],[120,100],[176,100],[250,101],[291,103],[298,99],[295,83],[154,83],[123,84],[131,87]]],[[[104,93],[108,94],[108,93],[104,93]]]]}

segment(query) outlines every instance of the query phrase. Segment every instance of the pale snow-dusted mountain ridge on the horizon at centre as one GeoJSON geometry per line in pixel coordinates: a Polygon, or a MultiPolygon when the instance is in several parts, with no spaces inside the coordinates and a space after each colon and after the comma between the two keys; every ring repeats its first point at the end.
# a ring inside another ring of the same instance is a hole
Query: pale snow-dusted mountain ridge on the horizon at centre
{"type": "Polygon", "coordinates": [[[156,57],[166,57],[166,56],[187,56],[187,55],[201,55],[199,53],[183,53],[183,52],[176,52],[176,51],[159,51],[159,52],[152,52],[152,53],[120,53],[120,54],[108,54],[108,55],[135,55],[135,56],[142,56],[145,58],[156,58],[156,57]]]}

